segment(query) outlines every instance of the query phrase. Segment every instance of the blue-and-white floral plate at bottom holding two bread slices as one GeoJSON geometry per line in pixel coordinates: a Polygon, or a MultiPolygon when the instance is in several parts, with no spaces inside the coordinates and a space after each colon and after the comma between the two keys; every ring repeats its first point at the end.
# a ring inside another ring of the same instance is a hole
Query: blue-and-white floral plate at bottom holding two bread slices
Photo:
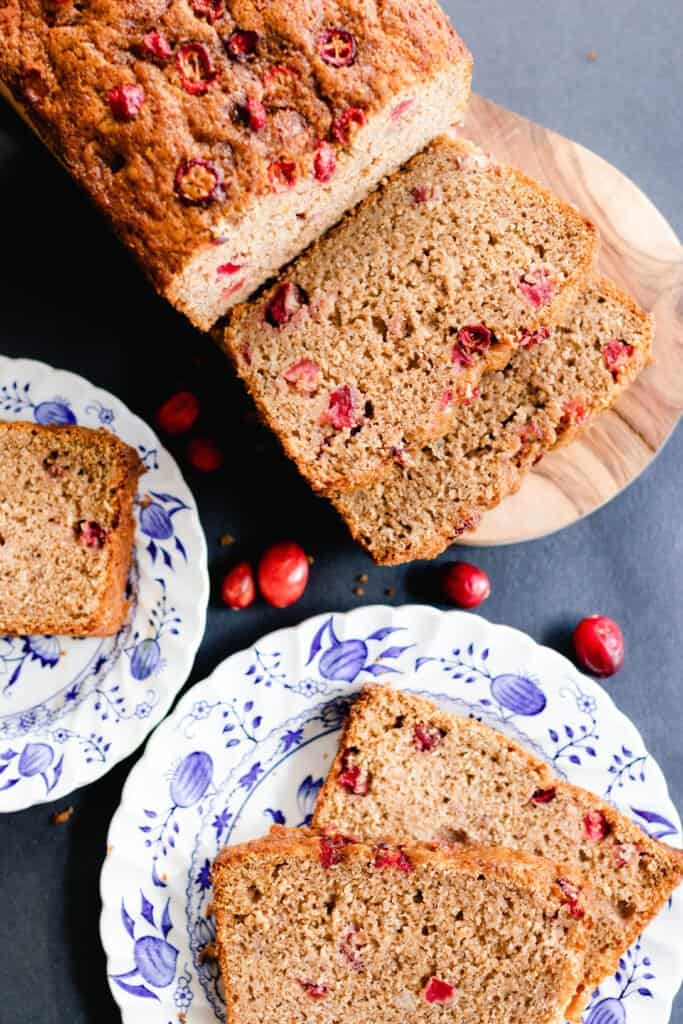
{"type": "MultiPolygon", "coordinates": [[[[680,844],[657,765],[605,691],[529,637],[460,611],[367,607],[264,637],[195,686],[130,774],[101,876],[125,1024],[223,1020],[210,868],[218,848],[309,820],[349,699],[373,679],[474,715],[680,844]]],[[[589,1024],[666,1024],[683,975],[677,895],[593,995],[589,1024]]]]}

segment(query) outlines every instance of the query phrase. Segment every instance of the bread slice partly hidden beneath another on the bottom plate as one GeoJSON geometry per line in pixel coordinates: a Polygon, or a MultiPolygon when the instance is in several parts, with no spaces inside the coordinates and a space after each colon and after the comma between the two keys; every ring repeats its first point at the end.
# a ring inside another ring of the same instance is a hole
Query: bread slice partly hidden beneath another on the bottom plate
{"type": "Polygon", "coordinates": [[[590,881],[594,928],[568,1011],[593,989],[683,880],[683,853],[473,719],[373,686],[352,706],[313,824],[367,842],[484,844],[525,850],[590,881]]]}

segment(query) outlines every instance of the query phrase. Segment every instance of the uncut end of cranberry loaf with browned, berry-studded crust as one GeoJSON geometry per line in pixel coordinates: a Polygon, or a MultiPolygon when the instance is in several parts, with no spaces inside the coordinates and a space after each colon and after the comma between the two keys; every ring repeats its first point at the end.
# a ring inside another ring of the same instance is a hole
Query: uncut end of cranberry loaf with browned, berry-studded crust
{"type": "Polygon", "coordinates": [[[434,0],[0,0],[0,82],[208,329],[462,116],[434,0]]]}

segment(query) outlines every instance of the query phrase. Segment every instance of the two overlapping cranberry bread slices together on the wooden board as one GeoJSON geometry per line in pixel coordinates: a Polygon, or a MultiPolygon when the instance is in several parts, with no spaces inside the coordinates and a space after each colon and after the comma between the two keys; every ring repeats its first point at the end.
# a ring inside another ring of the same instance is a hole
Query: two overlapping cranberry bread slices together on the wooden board
{"type": "Polygon", "coordinates": [[[265,422],[385,564],[476,527],[650,357],[573,207],[441,137],[233,310],[265,422]]]}

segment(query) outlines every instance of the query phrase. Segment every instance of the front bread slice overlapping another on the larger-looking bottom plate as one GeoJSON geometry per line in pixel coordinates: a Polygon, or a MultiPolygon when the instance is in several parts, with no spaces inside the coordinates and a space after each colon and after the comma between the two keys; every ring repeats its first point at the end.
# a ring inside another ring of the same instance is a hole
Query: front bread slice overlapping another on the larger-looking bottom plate
{"type": "Polygon", "coordinates": [[[559,1024],[590,896],[505,850],[276,829],[213,866],[227,1024],[559,1024]]]}

